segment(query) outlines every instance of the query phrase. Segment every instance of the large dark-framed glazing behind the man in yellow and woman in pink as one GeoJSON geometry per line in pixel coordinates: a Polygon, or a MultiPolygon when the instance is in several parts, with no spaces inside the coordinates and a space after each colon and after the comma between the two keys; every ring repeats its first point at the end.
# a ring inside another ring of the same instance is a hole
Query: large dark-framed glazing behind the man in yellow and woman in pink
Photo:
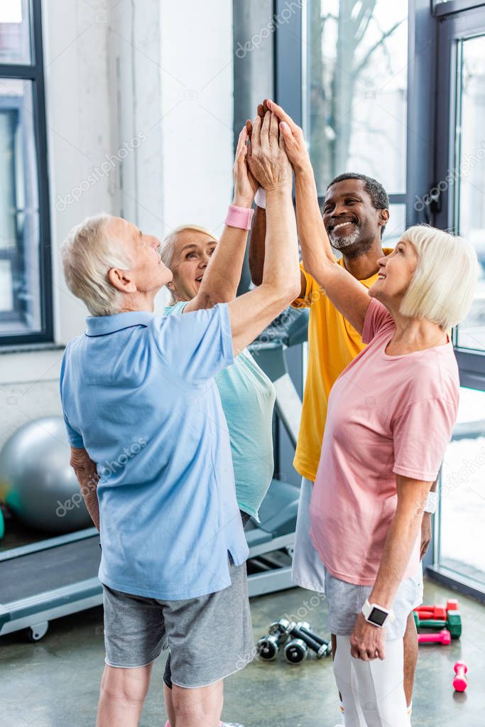
{"type": "Polygon", "coordinates": [[[483,548],[470,553],[470,543],[480,542],[485,514],[485,3],[413,0],[409,8],[307,0],[277,31],[275,89],[303,126],[320,196],[341,172],[369,174],[390,196],[384,246],[428,222],[476,249],[475,300],[453,332],[460,411],[423,562],[433,579],[483,598],[483,548]]]}

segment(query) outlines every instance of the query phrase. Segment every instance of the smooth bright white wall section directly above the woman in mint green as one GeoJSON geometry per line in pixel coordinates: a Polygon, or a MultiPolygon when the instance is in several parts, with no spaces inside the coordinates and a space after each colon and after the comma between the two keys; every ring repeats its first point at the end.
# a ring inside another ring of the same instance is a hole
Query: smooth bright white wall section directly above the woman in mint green
{"type": "Polygon", "coordinates": [[[163,220],[220,233],[232,188],[232,3],[163,3],[163,220]],[[178,28],[176,37],[171,31],[178,28]],[[176,140],[176,143],[174,141],[176,140]]]}

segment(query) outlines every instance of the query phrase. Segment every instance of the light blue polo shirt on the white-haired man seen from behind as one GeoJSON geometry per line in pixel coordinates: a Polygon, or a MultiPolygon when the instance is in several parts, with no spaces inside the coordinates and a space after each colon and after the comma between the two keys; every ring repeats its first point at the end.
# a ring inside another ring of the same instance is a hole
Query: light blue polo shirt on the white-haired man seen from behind
{"type": "Polygon", "coordinates": [[[87,319],[62,360],[70,444],[97,463],[99,579],[167,601],[230,585],[248,557],[213,376],[233,363],[227,305],[87,319]]]}

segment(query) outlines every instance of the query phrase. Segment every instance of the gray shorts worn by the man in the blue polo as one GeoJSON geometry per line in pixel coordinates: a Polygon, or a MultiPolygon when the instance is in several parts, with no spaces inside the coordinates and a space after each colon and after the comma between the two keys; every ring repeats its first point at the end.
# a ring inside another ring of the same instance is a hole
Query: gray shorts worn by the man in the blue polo
{"type": "Polygon", "coordinates": [[[171,649],[174,684],[208,686],[253,658],[246,565],[229,558],[231,585],[185,601],[159,601],[103,585],[106,663],[134,669],[171,649]]]}

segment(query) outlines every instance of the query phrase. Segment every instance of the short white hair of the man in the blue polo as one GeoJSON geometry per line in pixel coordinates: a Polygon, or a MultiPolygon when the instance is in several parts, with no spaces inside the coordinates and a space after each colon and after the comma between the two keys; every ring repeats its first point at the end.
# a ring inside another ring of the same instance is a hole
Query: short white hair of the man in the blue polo
{"type": "Polygon", "coordinates": [[[121,310],[122,293],[107,276],[111,268],[129,270],[134,260],[121,242],[108,233],[111,214],[86,217],[65,238],[61,247],[65,281],[81,298],[91,316],[112,316],[121,310]]]}

